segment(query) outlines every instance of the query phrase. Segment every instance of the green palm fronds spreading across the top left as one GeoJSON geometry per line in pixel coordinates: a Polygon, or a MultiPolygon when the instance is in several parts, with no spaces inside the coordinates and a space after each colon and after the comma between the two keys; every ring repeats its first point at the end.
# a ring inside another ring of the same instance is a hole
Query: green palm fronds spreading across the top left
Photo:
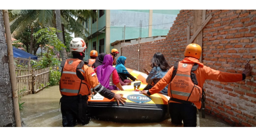
{"type": "MultiPolygon", "coordinates": [[[[84,28],[83,22],[89,17],[96,17],[96,13],[92,10],[60,10],[61,11],[61,23],[62,28],[62,38],[64,36],[64,30],[71,33],[75,33],[83,39],[86,39],[85,34],[89,32],[84,28]],[[75,19],[76,18],[76,19],[75,19]]],[[[56,14],[54,10],[10,10],[10,27],[13,36],[19,36],[25,31],[26,27],[30,27],[31,30],[34,29],[34,24],[39,24],[42,27],[50,26],[56,28],[56,14]]],[[[34,31],[31,31],[30,37],[33,35],[34,31]]],[[[30,52],[33,49],[33,41],[30,41],[30,52]]],[[[64,40],[63,40],[64,41],[64,40]]],[[[62,42],[63,42],[62,41],[62,42]]],[[[64,43],[64,42],[63,42],[64,43]]],[[[35,54],[35,53],[34,53],[35,54]]],[[[65,54],[65,53],[64,53],[65,54]]],[[[66,54],[64,56],[67,56],[66,54]]]]}

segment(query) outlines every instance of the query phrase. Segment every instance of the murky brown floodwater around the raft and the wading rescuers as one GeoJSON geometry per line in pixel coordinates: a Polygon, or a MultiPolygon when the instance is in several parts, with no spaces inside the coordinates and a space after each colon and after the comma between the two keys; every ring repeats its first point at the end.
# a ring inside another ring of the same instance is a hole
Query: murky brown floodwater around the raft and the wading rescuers
{"type": "MultiPolygon", "coordinates": [[[[60,98],[59,86],[48,87],[37,94],[22,97],[20,102],[25,102],[23,110],[20,111],[24,122],[22,126],[62,127],[61,109],[59,109],[60,98]]],[[[202,119],[200,116],[200,127],[231,127],[224,121],[210,115],[205,117],[205,119],[202,119]]],[[[175,125],[171,124],[171,119],[166,119],[159,123],[141,124],[115,123],[91,119],[89,124],[76,125],[76,127],[175,127],[175,125]]]]}

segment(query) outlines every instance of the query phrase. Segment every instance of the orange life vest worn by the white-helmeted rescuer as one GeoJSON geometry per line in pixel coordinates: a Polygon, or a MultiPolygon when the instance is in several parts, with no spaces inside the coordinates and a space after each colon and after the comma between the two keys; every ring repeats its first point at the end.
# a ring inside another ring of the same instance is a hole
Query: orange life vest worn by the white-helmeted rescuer
{"type": "Polygon", "coordinates": [[[65,96],[90,95],[91,86],[84,80],[84,61],[80,59],[67,59],[61,72],[60,92],[65,96]],[[79,77],[78,77],[79,76],[79,77]],[[81,90],[82,89],[82,90],[81,90]]]}

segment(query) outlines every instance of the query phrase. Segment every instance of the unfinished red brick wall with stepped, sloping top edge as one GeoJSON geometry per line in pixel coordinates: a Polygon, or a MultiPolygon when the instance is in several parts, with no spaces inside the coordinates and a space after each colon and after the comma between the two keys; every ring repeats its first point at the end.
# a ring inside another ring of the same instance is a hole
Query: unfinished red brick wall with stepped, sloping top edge
{"type": "MultiPolygon", "coordinates": [[[[150,70],[153,54],[161,52],[168,63],[184,58],[187,26],[193,36],[194,10],[181,10],[165,40],[122,47],[126,67],[150,70]],[[140,53],[138,52],[138,49],[140,53]],[[138,60],[139,59],[139,60],[138,60]]],[[[207,10],[211,20],[204,27],[202,63],[212,69],[242,73],[249,59],[252,76],[237,83],[205,81],[206,112],[233,126],[256,126],[256,10],[207,10]]]]}

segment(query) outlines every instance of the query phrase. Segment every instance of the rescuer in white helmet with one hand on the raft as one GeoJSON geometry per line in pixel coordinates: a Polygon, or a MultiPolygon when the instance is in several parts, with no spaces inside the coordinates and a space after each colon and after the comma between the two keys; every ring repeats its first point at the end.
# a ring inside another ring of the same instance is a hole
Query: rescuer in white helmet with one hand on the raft
{"type": "Polygon", "coordinates": [[[61,114],[63,127],[73,127],[77,122],[88,124],[90,117],[87,111],[87,100],[91,88],[102,96],[114,98],[118,105],[124,104],[126,99],[123,94],[115,94],[103,87],[93,71],[93,68],[84,64],[84,51],[86,45],[82,38],[74,38],[69,49],[73,58],[61,62],[61,79],[59,89],[61,92],[61,114]]]}

